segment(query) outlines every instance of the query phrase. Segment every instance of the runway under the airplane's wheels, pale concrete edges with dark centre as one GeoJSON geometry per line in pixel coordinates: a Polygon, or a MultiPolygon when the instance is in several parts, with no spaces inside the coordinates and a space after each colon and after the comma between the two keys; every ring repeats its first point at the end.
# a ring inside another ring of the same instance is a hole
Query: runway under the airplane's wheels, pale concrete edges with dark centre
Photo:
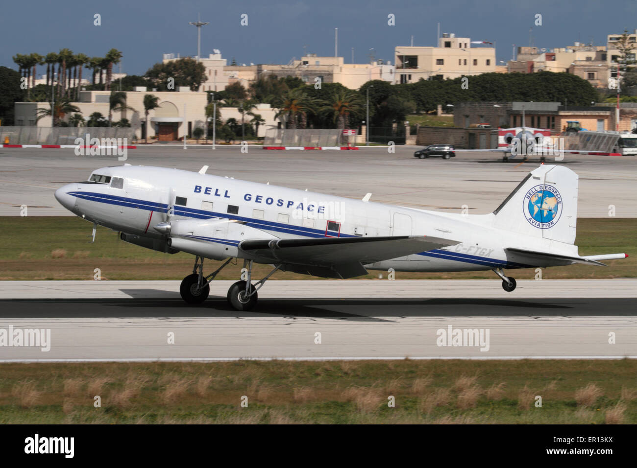
{"type": "Polygon", "coordinates": [[[0,329],[50,329],[50,350],[0,346],[0,360],[637,358],[637,280],[499,283],[273,280],[237,312],[231,281],[200,306],[178,281],[3,281],[0,329]],[[455,329],[486,341],[440,346],[455,329]]]}

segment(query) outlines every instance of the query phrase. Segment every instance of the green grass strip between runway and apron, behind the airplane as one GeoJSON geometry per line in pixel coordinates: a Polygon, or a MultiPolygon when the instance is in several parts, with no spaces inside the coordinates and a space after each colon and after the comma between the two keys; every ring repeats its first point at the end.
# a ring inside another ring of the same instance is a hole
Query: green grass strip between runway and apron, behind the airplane
{"type": "MultiPolygon", "coordinates": [[[[192,271],[194,257],[186,253],[154,252],[118,239],[117,232],[97,228],[95,243],[89,243],[92,225],[75,216],[5,216],[0,218],[0,280],[92,280],[94,269],[105,280],[181,280],[192,271]],[[57,251],[57,252],[55,252],[57,251]],[[55,253],[54,253],[55,252],[55,253]],[[54,258],[57,256],[59,258],[54,258]]],[[[610,260],[609,267],[572,265],[543,271],[543,278],[637,277],[637,218],[580,218],[576,244],[581,255],[626,252],[628,259],[610,260]]],[[[206,260],[206,271],[220,262],[206,260]]],[[[242,262],[228,266],[217,277],[239,277],[242,262]]],[[[255,266],[255,278],[267,274],[269,266],[255,266]]],[[[377,278],[386,272],[370,272],[361,278],[377,278]]],[[[534,269],[515,271],[515,278],[533,279],[534,269]]],[[[275,279],[307,279],[310,276],[278,272],[275,279]]],[[[396,279],[494,279],[490,271],[461,273],[396,273],[396,279]]]]}

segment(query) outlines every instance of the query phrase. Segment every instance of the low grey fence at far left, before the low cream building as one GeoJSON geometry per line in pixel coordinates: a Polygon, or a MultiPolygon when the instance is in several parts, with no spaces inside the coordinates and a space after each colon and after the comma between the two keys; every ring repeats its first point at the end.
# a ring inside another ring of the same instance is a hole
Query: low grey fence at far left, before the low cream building
{"type": "MultiPolygon", "coordinates": [[[[131,127],[0,127],[0,145],[9,137],[11,145],[75,145],[75,139],[134,138],[131,127]]],[[[87,142],[88,145],[90,142],[87,142]]]]}

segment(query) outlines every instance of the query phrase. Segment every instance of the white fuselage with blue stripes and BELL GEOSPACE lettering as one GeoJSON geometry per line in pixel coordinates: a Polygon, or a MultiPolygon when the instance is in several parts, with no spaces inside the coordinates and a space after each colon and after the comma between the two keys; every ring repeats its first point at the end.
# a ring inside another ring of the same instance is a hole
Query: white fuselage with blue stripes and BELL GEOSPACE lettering
{"type": "MultiPolygon", "coordinates": [[[[548,252],[554,246],[550,239],[494,227],[493,213],[439,213],[162,167],[104,167],[94,174],[111,181],[72,183],[55,196],[90,222],[141,238],[163,239],[153,227],[166,221],[225,218],[276,238],[425,235],[459,242],[369,264],[367,269],[476,271],[568,264],[555,260],[538,264],[536,259],[505,252],[510,247],[548,252]],[[115,178],[124,180],[122,188],[116,188],[115,178]]],[[[228,233],[213,237],[235,246],[245,240],[229,238],[228,233]]],[[[567,247],[570,253],[575,248],[576,255],[575,246],[567,247]]]]}

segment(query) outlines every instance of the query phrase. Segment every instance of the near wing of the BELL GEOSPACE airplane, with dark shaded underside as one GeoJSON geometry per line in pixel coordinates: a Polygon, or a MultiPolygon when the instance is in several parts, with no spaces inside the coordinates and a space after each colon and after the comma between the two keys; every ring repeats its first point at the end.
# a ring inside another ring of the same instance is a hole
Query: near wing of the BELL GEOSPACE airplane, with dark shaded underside
{"type": "Polygon", "coordinates": [[[262,263],[328,278],[366,274],[363,265],[412,253],[456,245],[459,241],[429,236],[245,240],[239,250],[262,263]]]}

